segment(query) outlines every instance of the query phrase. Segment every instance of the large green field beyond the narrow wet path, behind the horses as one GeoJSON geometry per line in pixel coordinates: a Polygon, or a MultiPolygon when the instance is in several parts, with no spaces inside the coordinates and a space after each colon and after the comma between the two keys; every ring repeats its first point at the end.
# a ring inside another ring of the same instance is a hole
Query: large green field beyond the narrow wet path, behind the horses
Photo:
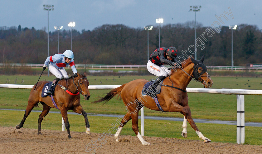
{"type": "MultiPolygon", "coordinates": [[[[17,78],[17,84],[35,84],[38,76],[0,76],[0,83],[5,83],[7,78],[10,84],[14,84],[17,78]],[[22,79],[24,80],[21,83],[22,79]],[[12,83],[13,82],[13,83],[12,83]]],[[[144,78],[150,80],[153,76],[88,76],[90,85],[118,85],[124,84],[133,79],[144,78]],[[116,81],[113,81],[113,78],[116,81]],[[107,79],[107,80],[106,80],[107,79]],[[100,83],[100,81],[102,83],[100,83]]],[[[42,76],[40,80],[53,80],[54,76],[42,76]]],[[[232,88],[232,89],[261,89],[261,78],[255,77],[212,77],[214,82],[212,88],[232,88]],[[249,81],[248,81],[249,80],[249,81]],[[250,86],[250,87],[249,87],[250,86]]],[[[7,81],[8,82],[8,81],[7,81]]],[[[190,82],[188,87],[201,88],[199,82],[190,82]]],[[[90,100],[85,101],[81,97],[81,105],[87,113],[103,113],[103,114],[126,114],[126,107],[122,101],[116,99],[110,100],[105,105],[91,104],[97,100],[98,96],[104,96],[110,90],[90,90],[90,100]]],[[[0,88],[0,108],[22,109],[27,107],[27,100],[30,89],[10,89],[0,88]]],[[[191,107],[192,117],[200,119],[214,120],[236,120],[236,96],[222,94],[201,94],[188,93],[189,106],[191,107]]],[[[246,122],[262,122],[262,105],[261,96],[245,95],[245,121],[246,122]]],[[[34,110],[42,110],[34,108],[34,110]]],[[[51,109],[51,111],[58,111],[51,109]]],[[[183,117],[180,113],[158,112],[150,109],[144,109],[145,116],[163,116],[163,117],[183,117]]]]}

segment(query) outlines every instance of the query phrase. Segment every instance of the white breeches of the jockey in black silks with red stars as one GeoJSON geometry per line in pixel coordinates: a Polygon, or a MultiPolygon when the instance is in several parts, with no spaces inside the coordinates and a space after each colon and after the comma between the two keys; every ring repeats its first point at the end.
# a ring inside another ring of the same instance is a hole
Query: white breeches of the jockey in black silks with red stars
{"type": "Polygon", "coordinates": [[[171,71],[167,68],[167,67],[165,67],[165,66],[163,66],[163,65],[161,65],[160,67],[159,66],[157,66],[156,64],[154,64],[153,62],[151,62],[151,61],[148,61],[148,63],[147,63],[147,69],[148,69],[148,71],[150,72],[150,73],[152,73],[152,74],[154,74],[154,75],[156,75],[156,76],[165,76],[165,77],[167,77],[167,75],[170,75],[171,74],[171,71]]]}

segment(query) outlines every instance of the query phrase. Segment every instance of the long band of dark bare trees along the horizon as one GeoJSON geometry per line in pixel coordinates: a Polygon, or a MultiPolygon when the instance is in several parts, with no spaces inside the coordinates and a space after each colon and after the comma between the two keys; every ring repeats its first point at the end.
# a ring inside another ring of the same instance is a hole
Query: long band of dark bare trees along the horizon
{"type": "MultiPolygon", "coordinates": [[[[196,36],[198,59],[205,54],[209,66],[231,66],[231,29],[214,29],[197,24],[196,36]],[[207,29],[212,36],[207,35],[207,29]],[[205,33],[206,32],[206,33],[205,33]],[[202,35],[202,37],[201,37],[202,35]],[[204,37],[204,38],[203,38],[204,37]]],[[[161,47],[174,46],[178,56],[182,50],[194,45],[193,22],[168,24],[161,27],[161,47]]],[[[233,31],[234,66],[247,63],[262,63],[262,35],[257,26],[241,24],[233,31]]],[[[147,30],[122,24],[105,24],[94,30],[72,30],[73,52],[76,64],[133,64],[147,63],[147,30]]],[[[50,55],[57,51],[57,31],[49,32],[50,55]]],[[[149,55],[158,48],[159,27],[149,31],[149,55]]],[[[59,34],[60,53],[71,48],[71,31],[59,34]]],[[[192,48],[191,48],[192,50],[192,48]]],[[[192,50],[193,51],[193,50],[192,50]]],[[[0,62],[2,63],[44,63],[47,57],[46,29],[34,27],[0,27],[0,62]]],[[[187,52],[190,55],[190,52],[187,52]]],[[[193,54],[194,55],[194,54],[193,54]]],[[[194,57],[194,56],[193,56],[194,57]]]]}

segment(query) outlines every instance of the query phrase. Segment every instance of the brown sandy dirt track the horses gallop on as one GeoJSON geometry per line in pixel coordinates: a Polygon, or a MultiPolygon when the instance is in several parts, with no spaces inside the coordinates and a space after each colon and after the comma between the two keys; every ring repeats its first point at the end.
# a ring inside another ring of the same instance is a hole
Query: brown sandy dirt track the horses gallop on
{"type": "MultiPolygon", "coordinates": [[[[180,140],[177,138],[143,137],[151,145],[142,145],[138,137],[120,135],[120,142],[114,136],[85,132],[71,132],[68,139],[67,132],[42,130],[37,135],[36,129],[14,127],[0,127],[1,153],[97,153],[97,154],[261,154],[262,145],[238,145],[233,143],[204,143],[202,140],[180,140]],[[99,143],[99,141],[102,143],[99,143]],[[96,144],[96,146],[95,146],[96,144]],[[88,151],[89,150],[89,151],[88,151]],[[88,152],[86,152],[88,151],[88,152]]],[[[114,134],[113,134],[114,135],[114,134]]]]}

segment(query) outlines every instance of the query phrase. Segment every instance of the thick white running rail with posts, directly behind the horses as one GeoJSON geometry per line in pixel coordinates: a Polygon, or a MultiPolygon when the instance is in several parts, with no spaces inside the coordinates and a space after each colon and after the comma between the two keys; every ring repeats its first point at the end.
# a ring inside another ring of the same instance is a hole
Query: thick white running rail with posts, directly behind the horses
{"type": "MultiPolygon", "coordinates": [[[[16,84],[0,84],[0,88],[24,88],[31,89],[34,85],[16,85],[16,84]]],[[[121,85],[93,85],[89,89],[114,89],[121,85]]],[[[187,88],[187,92],[192,93],[213,93],[236,95],[237,98],[237,132],[236,142],[238,144],[245,143],[245,95],[262,95],[262,90],[248,90],[248,89],[204,89],[204,88],[187,88]]],[[[144,135],[144,113],[141,109],[141,135],[144,135]]],[[[62,118],[63,122],[63,118],[62,118]]],[[[62,126],[62,130],[65,127],[62,126]]]]}

